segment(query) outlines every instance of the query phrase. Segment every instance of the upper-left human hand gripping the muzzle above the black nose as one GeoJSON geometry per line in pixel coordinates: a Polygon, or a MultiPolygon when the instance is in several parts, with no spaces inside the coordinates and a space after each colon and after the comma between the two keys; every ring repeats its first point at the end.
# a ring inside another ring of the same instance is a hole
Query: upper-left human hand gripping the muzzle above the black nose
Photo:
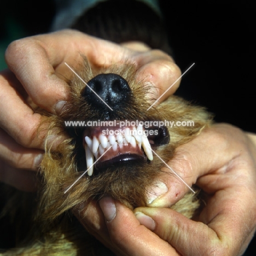
{"type": "MultiPolygon", "coordinates": [[[[14,41],[5,53],[9,69],[0,72],[0,181],[23,190],[34,189],[45,135],[38,136],[42,116],[33,112],[27,99],[50,113],[60,113],[68,101],[66,82],[71,75],[64,63],[75,67],[80,54],[96,67],[135,63],[137,78],[153,85],[155,98],[181,74],[170,56],[139,42],[117,45],[74,30],[14,41]]],[[[178,85],[179,81],[161,100],[178,85]]]]}

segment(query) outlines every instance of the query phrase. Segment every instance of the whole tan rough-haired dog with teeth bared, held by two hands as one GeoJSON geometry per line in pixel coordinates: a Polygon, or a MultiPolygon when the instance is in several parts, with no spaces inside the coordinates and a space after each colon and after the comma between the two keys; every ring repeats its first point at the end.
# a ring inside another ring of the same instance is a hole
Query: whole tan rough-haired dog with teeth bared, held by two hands
{"type": "MultiPolygon", "coordinates": [[[[38,135],[65,133],[66,139],[55,149],[46,139],[37,193],[8,194],[3,212],[11,214],[16,242],[0,255],[113,255],[72,211],[104,195],[131,209],[147,206],[148,188],[164,162],[211,125],[204,108],[177,96],[152,106],[156,96],[150,85],[136,79],[135,65],[92,68],[86,57],[81,59],[61,114],[33,106],[44,116],[38,135]],[[167,121],[193,125],[171,127],[167,121]]],[[[192,218],[200,203],[200,193],[190,191],[171,208],[192,218]]]]}

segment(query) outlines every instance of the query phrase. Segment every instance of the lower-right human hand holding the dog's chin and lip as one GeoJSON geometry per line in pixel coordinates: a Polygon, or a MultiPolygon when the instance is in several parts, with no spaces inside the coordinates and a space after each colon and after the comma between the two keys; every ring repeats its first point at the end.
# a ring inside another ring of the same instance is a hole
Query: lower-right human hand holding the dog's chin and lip
{"type": "Polygon", "coordinates": [[[168,191],[149,194],[150,207],[132,212],[104,197],[77,216],[118,255],[242,255],[256,226],[255,142],[255,135],[218,124],[177,148],[168,165],[208,195],[196,220],[167,208],[188,190],[167,168],[156,183],[168,191]]]}

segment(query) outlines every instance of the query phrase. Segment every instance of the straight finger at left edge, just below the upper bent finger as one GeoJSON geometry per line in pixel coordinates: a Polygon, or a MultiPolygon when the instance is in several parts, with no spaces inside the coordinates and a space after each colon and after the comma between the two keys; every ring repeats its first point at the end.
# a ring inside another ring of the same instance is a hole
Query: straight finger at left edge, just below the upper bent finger
{"type": "Polygon", "coordinates": [[[30,148],[43,149],[43,141],[37,137],[41,116],[26,104],[15,90],[19,83],[8,70],[0,75],[0,127],[15,141],[30,148]]]}

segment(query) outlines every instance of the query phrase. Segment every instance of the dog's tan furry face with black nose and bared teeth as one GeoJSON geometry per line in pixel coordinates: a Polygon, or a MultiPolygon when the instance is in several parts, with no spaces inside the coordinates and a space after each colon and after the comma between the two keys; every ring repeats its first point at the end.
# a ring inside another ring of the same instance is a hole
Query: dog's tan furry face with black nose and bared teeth
{"type": "Polygon", "coordinates": [[[92,70],[85,59],[77,73],[61,115],[46,118],[49,135],[60,130],[69,137],[42,162],[46,215],[54,218],[103,195],[129,207],[146,206],[164,162],[206,125],[207,114],[174,96],[151,107],[156,96],[136,79],[131,64],[92,70]],[[177,121],[194,125],[173,125],[177,121]]]}

